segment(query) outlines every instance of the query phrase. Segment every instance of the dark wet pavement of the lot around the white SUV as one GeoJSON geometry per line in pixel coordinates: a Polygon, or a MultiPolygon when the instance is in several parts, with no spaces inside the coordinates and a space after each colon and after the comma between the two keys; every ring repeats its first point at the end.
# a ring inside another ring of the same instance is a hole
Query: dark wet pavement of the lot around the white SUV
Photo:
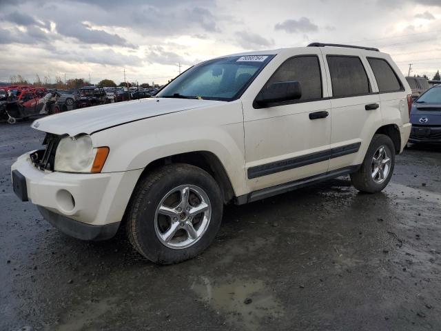
{"type": "Polygon", "coordinates": [[[201,257],[161,267],[15,197],[29,125],[0,124],[0,330],[441,330],[441,148],[405,150],[380,194],[341,177],[227,206],[201,257]]]}

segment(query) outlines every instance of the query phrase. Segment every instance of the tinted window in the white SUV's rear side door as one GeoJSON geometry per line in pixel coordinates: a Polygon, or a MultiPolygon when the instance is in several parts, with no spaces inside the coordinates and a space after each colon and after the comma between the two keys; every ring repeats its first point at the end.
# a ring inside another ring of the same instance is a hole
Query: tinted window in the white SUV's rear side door
{"type": "Polygon", "coordinates": [[[359,57],[327,55],[332,95],[336,98],[369,94],[371,85],[359,57]]]}

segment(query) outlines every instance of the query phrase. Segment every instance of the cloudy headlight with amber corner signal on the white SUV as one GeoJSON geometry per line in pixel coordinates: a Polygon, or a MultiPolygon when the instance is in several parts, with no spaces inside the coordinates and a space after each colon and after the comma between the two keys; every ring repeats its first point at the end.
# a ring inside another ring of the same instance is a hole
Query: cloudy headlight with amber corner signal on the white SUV
{"type": "Polygon", "coordinates": [[[108,147],[94,148],[92,138],[66,137],[59,142],[55,153],[54,170],[61,172],[101,172],[108,147]]]}

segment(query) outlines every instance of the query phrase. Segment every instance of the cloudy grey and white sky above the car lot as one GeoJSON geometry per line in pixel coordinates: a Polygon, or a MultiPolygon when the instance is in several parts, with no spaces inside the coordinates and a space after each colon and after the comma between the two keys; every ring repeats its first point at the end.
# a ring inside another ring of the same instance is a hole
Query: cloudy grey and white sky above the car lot
{"type": "Polygon", "coordinates": [[[164,83],[199,61],[312,41],[374,46],[407,74],[441,69],[441,0],[0,0],[0,81],[89,73],[164,83]]]}

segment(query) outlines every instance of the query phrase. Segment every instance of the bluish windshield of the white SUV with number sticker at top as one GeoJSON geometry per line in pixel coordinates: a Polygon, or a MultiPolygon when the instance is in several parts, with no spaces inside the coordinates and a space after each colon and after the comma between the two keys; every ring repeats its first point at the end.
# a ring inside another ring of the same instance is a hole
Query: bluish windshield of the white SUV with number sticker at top
{"type": "Polygon", "coordinates": [[[178,76],[156,97],[232,101],[240,97],[272,57],[249,55],[203,62],[178,76]]]}

